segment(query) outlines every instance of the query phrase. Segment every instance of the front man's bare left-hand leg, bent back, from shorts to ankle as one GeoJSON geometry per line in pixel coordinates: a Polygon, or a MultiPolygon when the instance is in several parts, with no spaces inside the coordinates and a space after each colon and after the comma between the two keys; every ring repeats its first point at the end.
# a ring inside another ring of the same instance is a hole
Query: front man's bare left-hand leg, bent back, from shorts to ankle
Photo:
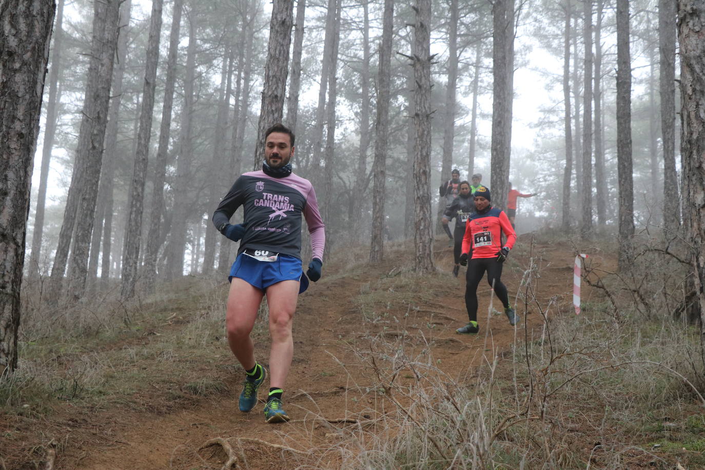
{"type": "Polygon", "coordinates": [[[233,278],[228,292],[225,324],[230,350],[245,370],[252,369],[256,364],[250,332],[255,326],[263,296],[264,292],[257,287],[243,279],[233,278]]]}

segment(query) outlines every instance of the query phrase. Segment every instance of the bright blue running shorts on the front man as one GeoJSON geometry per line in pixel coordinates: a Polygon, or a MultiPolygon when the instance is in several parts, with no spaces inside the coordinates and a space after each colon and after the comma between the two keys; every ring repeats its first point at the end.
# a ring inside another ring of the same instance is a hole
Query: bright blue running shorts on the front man
{"type": "Polygon", "coordinates": [[[298,280],[299,293],[308,288],[308,278],[301,268],[301,260],[288,254],[279,254],[276,261],[258,261],[245,253],[238,254],[230,269],[228,281],[240,278],[259,290],[265,290],[282,280],[298,280]]]}

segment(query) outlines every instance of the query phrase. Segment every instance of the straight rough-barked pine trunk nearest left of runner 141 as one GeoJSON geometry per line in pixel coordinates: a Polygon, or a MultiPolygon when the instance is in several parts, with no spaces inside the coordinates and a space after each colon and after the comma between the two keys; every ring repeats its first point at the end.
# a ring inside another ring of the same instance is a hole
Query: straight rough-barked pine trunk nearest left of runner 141
{"type": "Polygon", "coordinates": [[[431,224],[431,0],[417,0],[414,27],[414,246],[417,273],[436,271],[431,224]]]}

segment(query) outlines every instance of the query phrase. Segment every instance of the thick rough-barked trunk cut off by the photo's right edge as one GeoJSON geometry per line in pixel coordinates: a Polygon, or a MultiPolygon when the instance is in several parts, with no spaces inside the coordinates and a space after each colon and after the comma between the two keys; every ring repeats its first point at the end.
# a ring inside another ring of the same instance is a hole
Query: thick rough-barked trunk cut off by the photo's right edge
{"type": "MultiPolygon", "coordinates": [[[[705,360],[705,0],[678,1],[678,42],[680,44],[681,140],[687,180],[693,247],[692,264],[700,316],[701,355],[705,360]]],[[[673,195],[670,195],[673,203],[673,195]]]]}

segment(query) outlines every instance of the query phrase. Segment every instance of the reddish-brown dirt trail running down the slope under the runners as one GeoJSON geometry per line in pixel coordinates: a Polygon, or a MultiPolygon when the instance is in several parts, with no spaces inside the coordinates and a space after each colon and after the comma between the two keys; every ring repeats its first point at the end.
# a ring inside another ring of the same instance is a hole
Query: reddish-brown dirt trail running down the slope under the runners
{"type": "MultiPolygon", "coordinates": [[[[515,250],[520,252],[520,250],[515,250]]],[[[516,261],[508,263],[503,280],[510,289],[513,299],[516,286],[522,276],[522,268],[527,264],[527,249],[524,255],[517,253],[516,261]]],[[[534,247],[534,256],[542,253],[544,270],[539,281],[538,297],[547,302],[559,296],[565,304],[570,302],[568,293],[572,289],[572,250],[568,246],[534,247]]],[[[515,253],[513,252],[513,256],[515,253]]],[[[436,253],[436,266],[450,271],[452,255],[450,249],[436,253]]],[[[71,468],[78,469],[193,469],[221,468],[224,459],[218,447],[199,451],[199,447],[212,438],[229,439],[233,447],[240,445],[241,456],[247,459],[245,468],[269,469],[294,468],[298,462],[281,462],[280,449],[258,443],[285,445],[298,450],[312,446],[319,448],[334,445],[340,436],[331,432],[342,424],[324,423],[326,419],[365,419],[369,409],[374,408],[374,395],[365,387],[372,385],[367,372],[354,366],[355,357],[346,347],[346,340],[360,338],[362,321],[360,308],[353,299],[360,292],[374,290],[375,283],[382,276],[398,271],[395,260],[388,259],[380,266],[367,266],[362,273],[352,276],[329,276],[321,279],[309,292],[300,297],[295,317],[295,359],[288,379],[285,395],[287,410],[293,421],[283,425],[264,423],[262,404],[250,414],[237,409],[239,385],[233,382],[232,396],[202,402],[190,409],[181,409],[161,416],[133,412],[117,416],[101,416],[112,420],[114,426],[109,432],[114,436],[109,447],[67,448],[66,453],[77,462],[71,468]],[[365,414],[365,416],[363,416],[365,414]],[[246,438],[238,441],[238,438],[246,438]],[[250,439],[250,440],[247,440],[250,439]],[[255,439],[255,440],[252,440],[255,439]]],[[[506,350],[514,340],[515,330],[505,317],[492,316],[489,323],[484,316],[488,311],[489,287],[484,283],[479,288],[479,317],[481,333],[475,336],[461,336],[455,328],[467,321],[465,312],[465,283],[461,277],[455,279],[448,274],[446,287],[441,292],[430,292],[427,302],[415,309],[391,309],[386,314],[397,319],[405,318],[403,330],[397,326],[388,328],[386,335],[410,335],[423,333],[429,340],[434,358],[439,359],[443,371],[454,377],[469,376],[473,361],[482,357],[487,348],[506,350]],[[484,312],[484,313],[482,313],[484,312]],[[489,346],[486,335],[489,332],[489,346]]],[[[518,308],[520,313],[523,309],[518,308]]],[[[516,334],[523,336],[521,328],[516,334]]],[[[541,328],[541,318],[529,315],[529,329],[541,328]]],[[[369,326],[365,327],[369,329],[369,326]]],[[[374,322],[372,329],[374,333],[374,322]]],[[[380,326],[379,330],[384,330],[380,326]]],[[[257,346],[257,357],[267,357],[267,346],[257,346]]],[[[491,353],[489,353],[491,354],[491,353]]],[[[239,380],[234,378],[233,381],[239,380]]],[[[260,392],[260,397],[262,397],[260,392]]],[[[68,455],[67,455],[68,457],[68,455]]],[[[334,462],[320,462],[321,466],[335,466],[334,462]]]]}

